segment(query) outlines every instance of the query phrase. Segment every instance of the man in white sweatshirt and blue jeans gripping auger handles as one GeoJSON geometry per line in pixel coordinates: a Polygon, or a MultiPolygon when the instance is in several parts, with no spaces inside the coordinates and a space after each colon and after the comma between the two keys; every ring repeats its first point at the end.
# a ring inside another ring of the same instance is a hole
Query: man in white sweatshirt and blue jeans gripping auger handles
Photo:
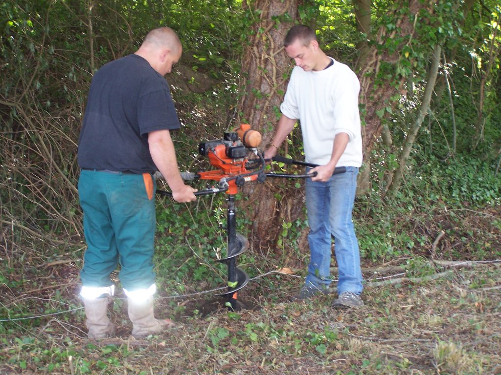
{"type": "Polygon", "coordinates": [[[311,258],[305,285],[297,297],[307,299],[328,293],[333,236],[339,280],[338,297],[332,305],[363,306],[360,251],[352,221],[357,174],[362,164],[360,83],[347,65],[322,51],[315,32],[308,26],[292,27],[284,46],[297,66],[280,106],[282,116],[265,157],[277,154],[299,120],[306,161],[319,164],[310,170],[317,175],[306,179],[311,258]],[[337,166],[346,167],[346,172],[333,175],[337,166]]]}

